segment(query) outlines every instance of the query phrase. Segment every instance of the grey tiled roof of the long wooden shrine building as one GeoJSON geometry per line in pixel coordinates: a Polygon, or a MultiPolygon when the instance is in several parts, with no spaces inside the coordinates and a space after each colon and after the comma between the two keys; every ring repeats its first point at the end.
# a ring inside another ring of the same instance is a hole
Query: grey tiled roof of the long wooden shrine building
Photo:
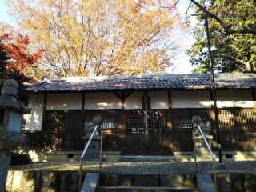
{"type": "MultiPolygon", "coordinates": [[[[256,74],[215,74],[218,88],[256,87],[256,74]]],[[[49,78],[28,86],[32,92],[83,90],[162,90],[210,88],[210,74],[164,74],[128,77],[49,78]]]]}

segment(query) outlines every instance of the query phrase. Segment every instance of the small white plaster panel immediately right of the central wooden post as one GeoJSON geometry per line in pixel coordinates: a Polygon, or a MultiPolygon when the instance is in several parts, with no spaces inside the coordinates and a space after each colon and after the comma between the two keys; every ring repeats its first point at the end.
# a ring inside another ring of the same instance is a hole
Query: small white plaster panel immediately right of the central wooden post
{"type": "Polygon", "coordinates": [[[151,109],[168,109],[167,91],[149,91],[151,109]]]}

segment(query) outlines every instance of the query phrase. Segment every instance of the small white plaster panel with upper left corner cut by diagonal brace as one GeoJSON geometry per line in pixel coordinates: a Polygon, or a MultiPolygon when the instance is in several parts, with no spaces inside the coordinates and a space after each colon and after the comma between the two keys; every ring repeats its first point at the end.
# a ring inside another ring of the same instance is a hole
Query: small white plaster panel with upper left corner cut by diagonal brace
{"type": "Polygon", "coordinates": [[[125,101],[126,110],[142,109],[143,91],[134,91],[125,101]]]}

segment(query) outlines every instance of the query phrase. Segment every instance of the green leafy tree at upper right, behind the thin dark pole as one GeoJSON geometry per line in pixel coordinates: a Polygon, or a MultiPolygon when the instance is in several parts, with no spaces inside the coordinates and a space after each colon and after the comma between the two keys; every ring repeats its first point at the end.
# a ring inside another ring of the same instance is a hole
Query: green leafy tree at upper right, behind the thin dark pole
{"type": "MultiPolygon", "coordinates": [[[[201,1],[202,3],[204,1],[201,1]]],[[[217,15],[233,29],[256,28],[256,3],[253,0],[210,0],[207,10],[217,15]]],[[[202,10],[197,10],[202,13],[202,10]]],[[[210,69],[207,55],[204,20],[198,16],[198,26],[194,29],[196,42],[188,54],[190,62],[196,66],[194,73],[207,73],[210,69]]],[[[256,72],[256,37],[254,34],[224,33],[222,26],[209,18],[210,40],[214,67],[219,72],[256,72]]]]}

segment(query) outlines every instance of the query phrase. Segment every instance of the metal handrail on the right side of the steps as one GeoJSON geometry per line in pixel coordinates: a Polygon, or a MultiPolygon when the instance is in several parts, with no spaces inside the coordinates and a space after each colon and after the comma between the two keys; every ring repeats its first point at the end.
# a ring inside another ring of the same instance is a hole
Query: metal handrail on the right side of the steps
{"type": "MultiPolygon", "coordinates": [[[[202,135],[202,138],[203,138],[204,142],[206,143],[206,147],[207,147],[207,149],[210,153],[211,158],[213,159],[214,190],[215,190],[215,192],[218,192],[217,175],[216,175],[216,155],[210,149],[210,144],[207,141],[205,134],[202,132],[202,129],[201,129],[199,124],[198,124],[198,130],[199,130],[200,134],[202,135]]],[[[194,134],[193,134],[193,138],[194,138],[194,134]]],[[[194,142],[194,159],[195,159],[195,163],[197,163],[196,162],[196,152],[195,152],[195,142],[194,142]]]]}

